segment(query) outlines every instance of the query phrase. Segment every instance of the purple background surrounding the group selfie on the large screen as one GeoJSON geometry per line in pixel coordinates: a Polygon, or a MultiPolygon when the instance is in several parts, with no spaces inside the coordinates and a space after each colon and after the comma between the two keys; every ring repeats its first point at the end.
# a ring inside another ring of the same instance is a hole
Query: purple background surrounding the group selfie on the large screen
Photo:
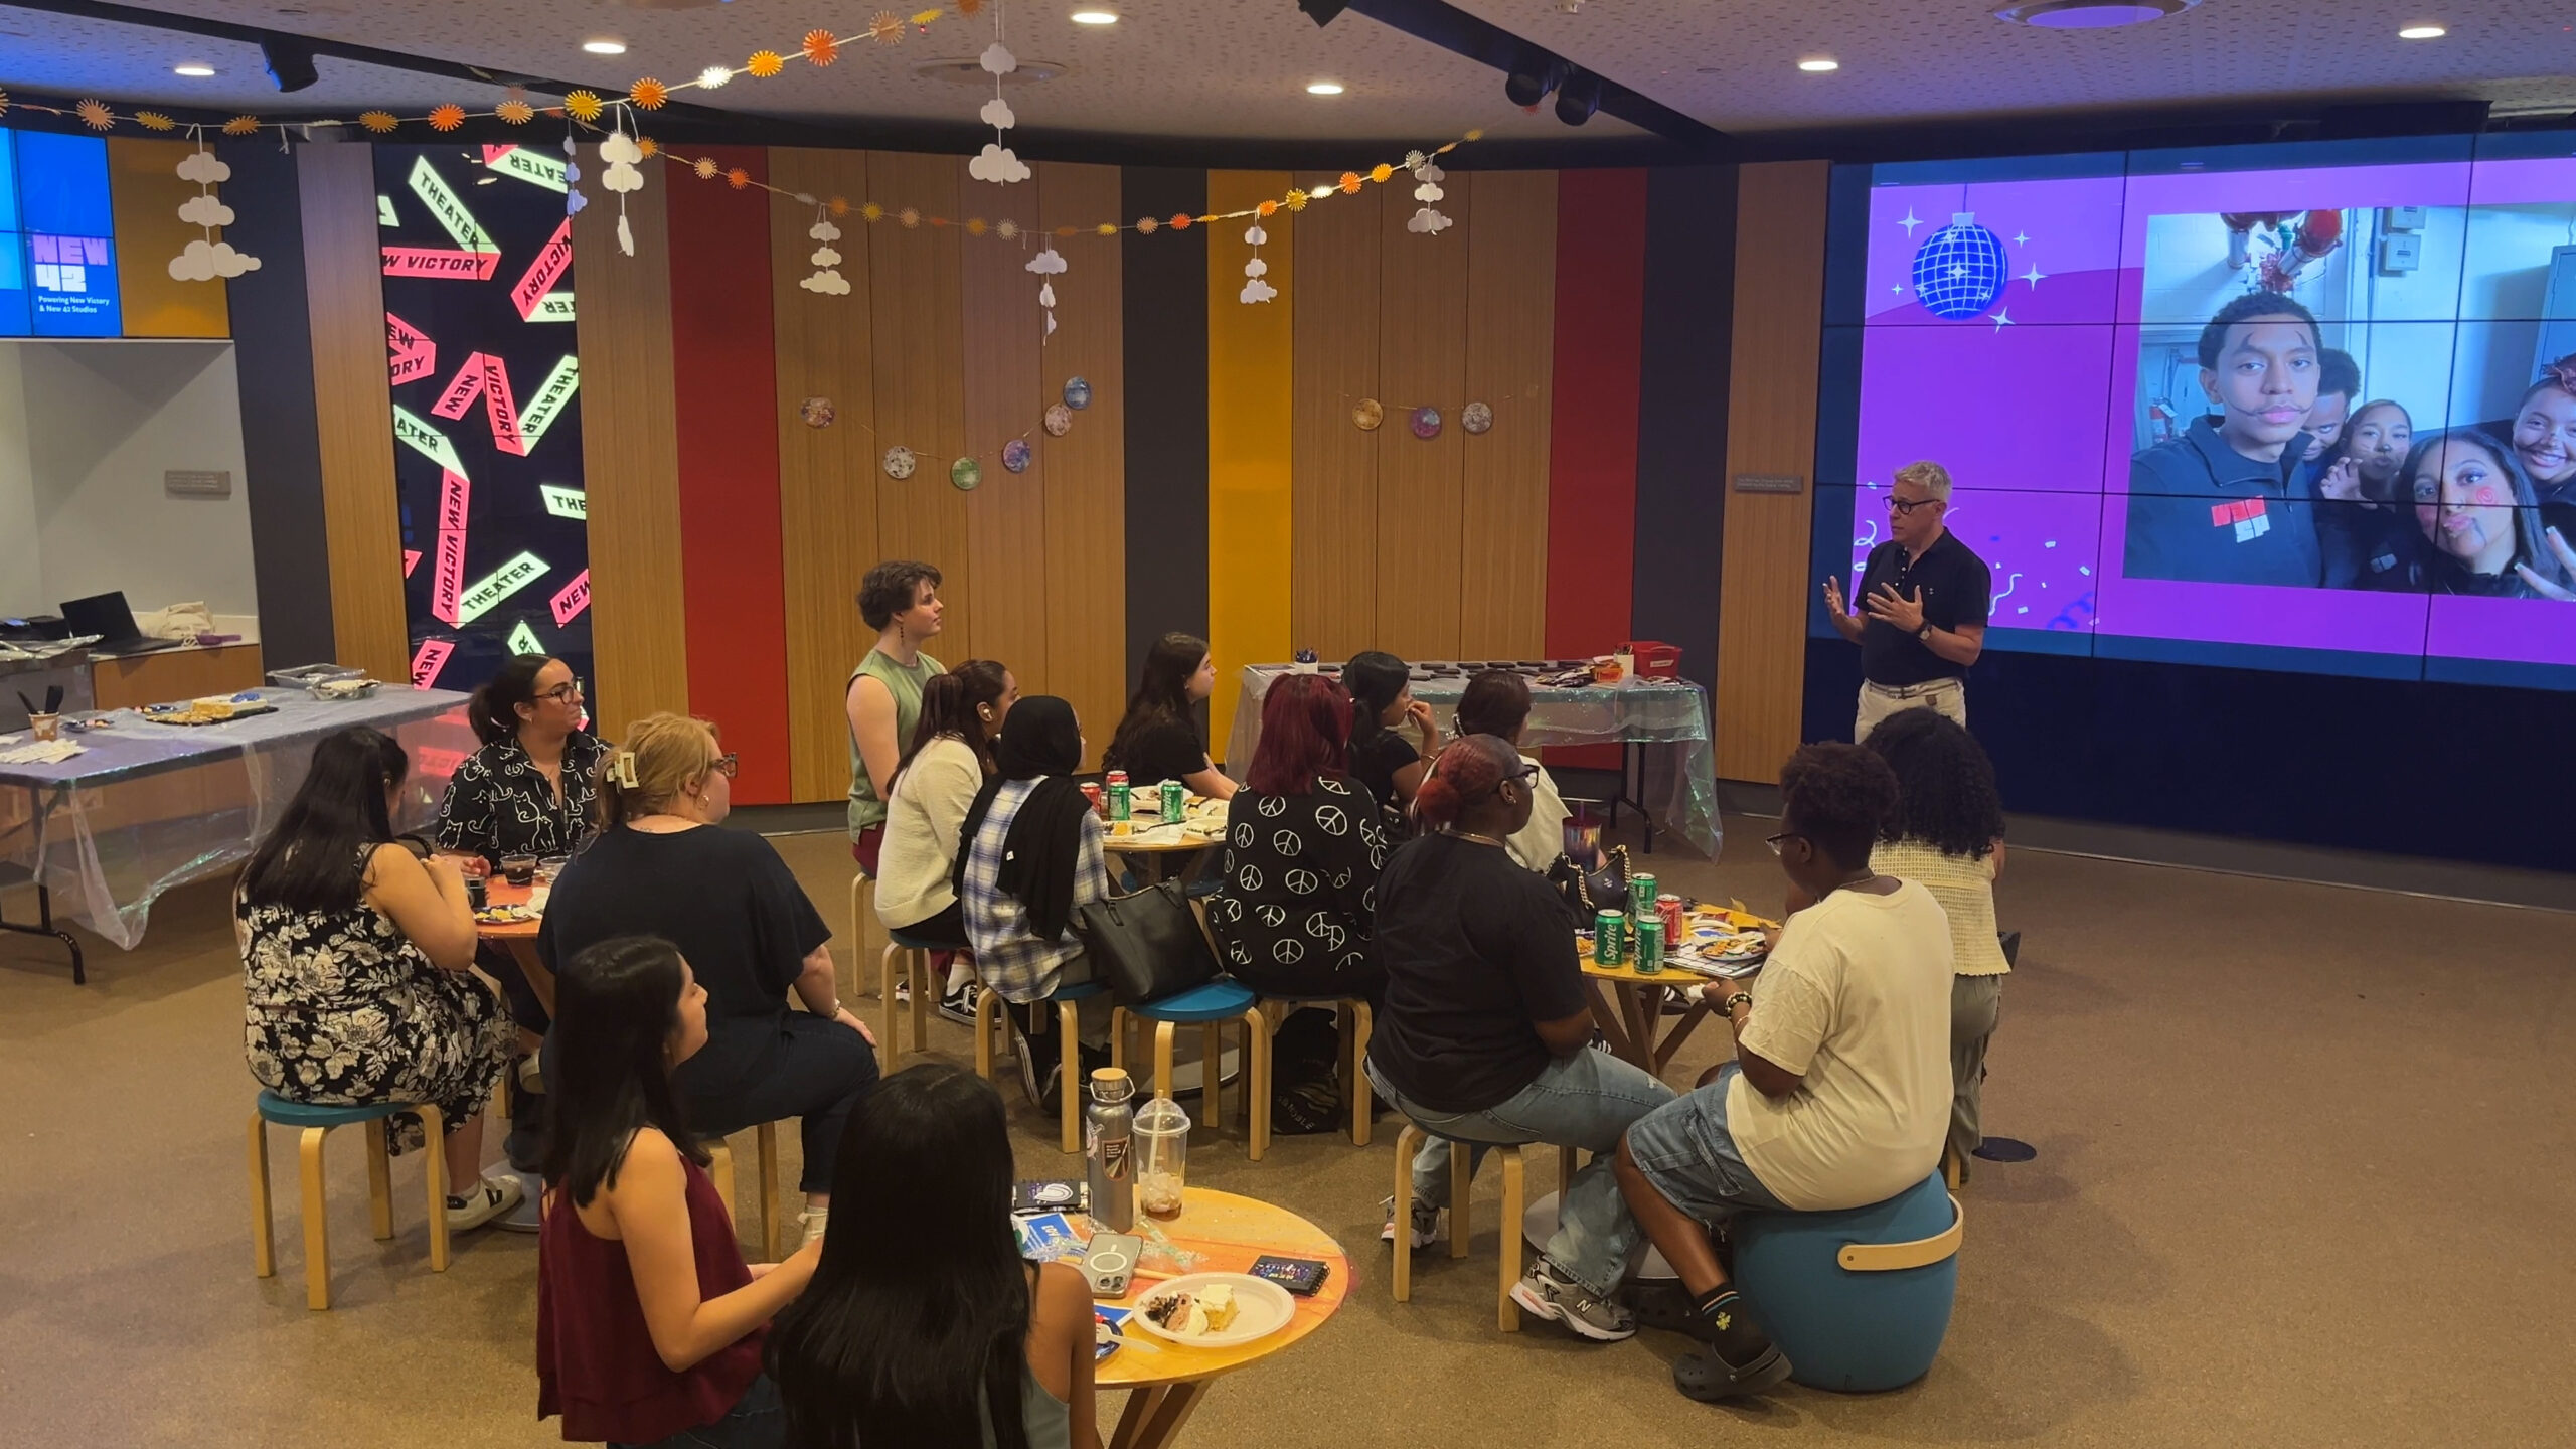
{"type": "MultiPolygon", "coordinates": [[[[1996,629],[2576,665],[2576,611],[2555,601],[2120,575],[2141,327],[2205,320],[2141,315],[2148,217],[2576,204],[2576,157],[1875,186],[1868,196],[1855,572],[1886,539],[1888,477],[1929,456],[1958,485],[1953,531],[1994,567],[1996,629]],[[2004,242],[2012,281],[1981,315],[1942,320],[1914,302],[1911,260],[1960,211],[2004,242]]],[[[1996,645],[2014,647],[2009,637],[1996,645]]]]}

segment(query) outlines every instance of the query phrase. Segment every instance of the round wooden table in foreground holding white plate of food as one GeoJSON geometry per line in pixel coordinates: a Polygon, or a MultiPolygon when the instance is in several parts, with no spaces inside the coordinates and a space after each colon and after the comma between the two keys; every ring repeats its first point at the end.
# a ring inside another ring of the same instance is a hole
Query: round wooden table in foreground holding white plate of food
{"type": "MultiPolygon", "coordinates": [[[[1087,1217],[1074,1225],[1090,1230],[1087,1217]]],[[[1144,1238],[1144,1261],[1128,1294],[1108,1307],[1133,1310],[1164,1279],[1182,1274],[1249,1274],[1252,1261],[1265,1253],[1280,1258],[1314,1258],[1329,1266],[1324,1287],[1296,1299],[1296,1318],[1288,1328],[1234,1348],[1188,1348],[1157,1338],[1144,1328],[1123,1328],[1121,1348],[1110,1354],[1095,1377],[1103,1390],[1128,1392],[1126,1413],[1108,1449],[1162,1449],[1180,1436],[1182,1423],[1208,1397],[1208,1387],[1234,1369],[1257,1364],[1298,1338],[1314,1333],[1350,1294],[1350,1256],[1314,1222],[1260,1199],[1213,1189],[1188,1189],[1180,1217],[1136,1214],[1136,1235],[1144,1238]]]]}

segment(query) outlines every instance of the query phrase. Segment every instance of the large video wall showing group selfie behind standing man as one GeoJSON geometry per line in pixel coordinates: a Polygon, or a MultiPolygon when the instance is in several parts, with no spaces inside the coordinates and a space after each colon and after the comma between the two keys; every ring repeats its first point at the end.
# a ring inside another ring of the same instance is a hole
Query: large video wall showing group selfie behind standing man
{"type": "Polygon", "coordinates": [[[1989,647],[2576,688],[2571,134],[1839,168],[1834,199],[1819,575],[1937,459],[1989,647]]]}

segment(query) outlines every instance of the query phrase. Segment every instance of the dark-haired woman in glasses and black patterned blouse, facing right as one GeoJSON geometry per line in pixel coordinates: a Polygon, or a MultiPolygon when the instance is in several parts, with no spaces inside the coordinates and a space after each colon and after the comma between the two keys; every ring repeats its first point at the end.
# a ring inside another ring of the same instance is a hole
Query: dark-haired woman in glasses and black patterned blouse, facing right
{"type": "MultiPolygon", "coordinates": [[[[430,838],[451,856],[569,856],[590,835],[608,745],[582,730],[582,681],[546,655],[518,655],[474,699],[466,722],[482,748],[448,776],[430,838]]],[[[528,1029],[523,1047],[546,1031],[546,1003],[510,951],[487,946],[477,962],[510,998],[510,1016],[528,1029]]],[[[520,1145],[526,1152],[528,1145],[520,1145]]]]}

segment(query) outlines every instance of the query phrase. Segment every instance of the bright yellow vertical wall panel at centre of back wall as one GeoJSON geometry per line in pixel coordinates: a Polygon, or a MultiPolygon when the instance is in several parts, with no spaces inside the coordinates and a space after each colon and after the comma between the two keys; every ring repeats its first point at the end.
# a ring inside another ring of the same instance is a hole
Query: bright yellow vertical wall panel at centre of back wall
{"type": "MultiPolygon", "coordinates": [[[[1285,170],[1211,170],[1208,211],[1242,211],[1285,191],[1285,170]]],[[[1275,222],[1262,224],[1260,248],[1273,289],[1296,276],[1296,227],[1275,222]]],[[[1234,727],[1236,670],[1296,650],[1288,627],[1296,309],[1285,297],[1242,302],[1255,253],[1244,240],[1249,227],[1208,227],[1208,650],[1218,678],[1208,699],[1211,753],[1224,753],[1234,727]]]]}

